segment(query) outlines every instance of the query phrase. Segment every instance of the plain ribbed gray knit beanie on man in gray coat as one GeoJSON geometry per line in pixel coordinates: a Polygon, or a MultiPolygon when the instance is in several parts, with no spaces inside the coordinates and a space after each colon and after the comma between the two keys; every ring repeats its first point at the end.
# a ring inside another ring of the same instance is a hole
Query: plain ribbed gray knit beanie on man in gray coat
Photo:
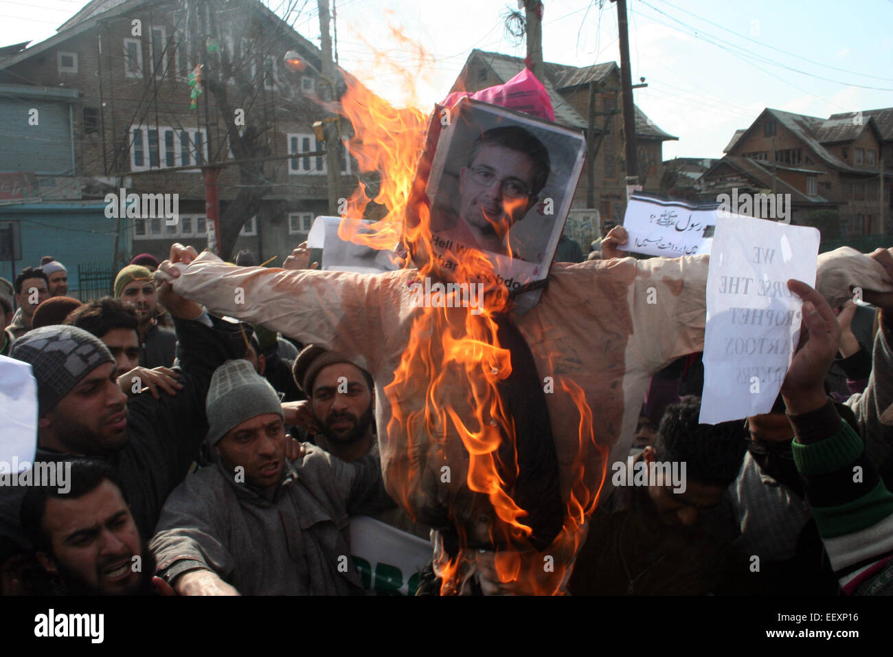
{"type": "Polygon", "coordinates": [[[252,417],[275,413],[284,418],[279,394],[247,360],[228,360],[214,370],[205,409],[212,446],[232,427],[252,417]]]}

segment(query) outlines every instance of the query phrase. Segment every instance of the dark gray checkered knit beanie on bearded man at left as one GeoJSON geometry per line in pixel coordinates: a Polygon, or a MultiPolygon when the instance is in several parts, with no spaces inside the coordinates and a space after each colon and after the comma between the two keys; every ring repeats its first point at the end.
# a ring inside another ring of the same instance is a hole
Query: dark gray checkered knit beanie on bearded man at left
{"type": "Polygon", "coordinates": [[[38,380],[40,417],[96,367],[114,363],[112,352],[95,335],[61,324],[25,333],[13,342],[9,355],[31,364],[38,380]]]}

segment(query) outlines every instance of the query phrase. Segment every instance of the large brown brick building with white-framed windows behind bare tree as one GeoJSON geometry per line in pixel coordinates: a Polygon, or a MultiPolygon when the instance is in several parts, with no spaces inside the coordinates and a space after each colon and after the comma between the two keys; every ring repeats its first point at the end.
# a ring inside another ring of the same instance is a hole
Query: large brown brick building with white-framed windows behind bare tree
{"type": "MultiPolygon", "coordinates": [[[[0,173],[34,173],[29,154],[49,139],[50,127],[67,119],[71,152],[65,171],[54,173],[64,173],[73,198],[102,199],[121,188],[178,195],[177,223],[118,219],[119,262],[140,252],[163,257],[173,240],[204,248],[203,164],[224,164],[221,216],[246,200],[241,190],[265,188],[256,211],[246,213],[234,249],[252,250],[258,262],[286,257],[305,239],[313,217],[327,214],[326,157],[313,130],[327,116],[318,103],[325,83],[321,52],[260,2],[93,0],[54,37],[21,46],[0,51],[0,83],[63,89],[70,97],[67,111],[52,123],[47,118],[20,131],[15,143],[4,141],[0,173]],[[286,68],[288,51],[308,64],[304,72],[286,68]],[[193,103],[190,78],[195,82],[203,63],[203,90],[193,103]],[[221,84],[212,88],[209,75],[221,84]],[[258,177],[226,165],[240,150],[230,145],[230,125],[247,136],[243,158],[263,160],[258,177]],[[288,157],[305,153],[317,155],[288,157]]],[[[343,128],[347,139],[349,125],[343,128]]],[[[346,197],[357,185],[346,149],[340,173],[339,195],[346,197]]]]}

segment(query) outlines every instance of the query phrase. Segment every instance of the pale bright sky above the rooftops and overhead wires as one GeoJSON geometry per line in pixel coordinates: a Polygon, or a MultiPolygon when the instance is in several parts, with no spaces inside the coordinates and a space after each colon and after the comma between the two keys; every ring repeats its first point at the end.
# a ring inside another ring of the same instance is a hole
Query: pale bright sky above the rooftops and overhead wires
{"type": "MultiPolygon", "coordinates": [[[[263,0],[273,11],[295,0],[263,0]]],[[[0,45],[51,37],[85,3],[0,0],[0,45]]],[[[316,2],[288,21],[319,44],[316,2]]],[[[620,62],[613,3],[544,0],[543,56],[587,66],[620,62]],[[600,6],[603,4],[603,6],[600,6]]],[[[506,0],[337,2],[338,57],[381,95],[429,107],[446,96],[472,48],[525,55],[505,36],[506,0]],[[421,43],[409,52],[388,25],[421,43]],[[373,52],[413,68],[414,89],[373,52]]],[[[893,106],[893,0],[630,0],[630,58],[637,105],[664,131],[663,156],[722,156],[736,128],[764,107],[828,116],[893,106]]]]}

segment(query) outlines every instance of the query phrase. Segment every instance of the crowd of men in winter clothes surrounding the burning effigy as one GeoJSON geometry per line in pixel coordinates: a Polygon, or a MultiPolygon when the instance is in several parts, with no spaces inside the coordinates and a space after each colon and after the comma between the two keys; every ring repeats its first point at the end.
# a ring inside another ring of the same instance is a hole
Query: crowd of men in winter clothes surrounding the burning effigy
{"type": "MultiPolygon", "coordinates": [[[[362,594],[350,518],[432,528],[388,495],[363,358],[214,316],[140,258],[85,302],[54,259],[0,281],[2,353],[38,384],[35,463],[71,468],[64,488],[0,486],[3,593],[362,594]]],[[[698,355],[655,373],[565,592],[890,593],[893,296],[858,306],[866,329],[792,290],[808,338],[771,413],[699,425],[698,355]]]]}

